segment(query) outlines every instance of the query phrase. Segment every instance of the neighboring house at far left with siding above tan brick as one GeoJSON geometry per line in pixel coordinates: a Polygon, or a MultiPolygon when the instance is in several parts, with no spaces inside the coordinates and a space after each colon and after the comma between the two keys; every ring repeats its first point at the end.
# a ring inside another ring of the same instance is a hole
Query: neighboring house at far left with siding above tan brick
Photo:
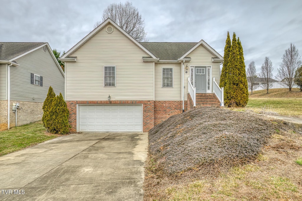
{"type": "Polygon", "coordinates": [[[47,42],[0,42],[0,130],[42,119],[49,86],[64,95],[64,72],[47,42]]]}

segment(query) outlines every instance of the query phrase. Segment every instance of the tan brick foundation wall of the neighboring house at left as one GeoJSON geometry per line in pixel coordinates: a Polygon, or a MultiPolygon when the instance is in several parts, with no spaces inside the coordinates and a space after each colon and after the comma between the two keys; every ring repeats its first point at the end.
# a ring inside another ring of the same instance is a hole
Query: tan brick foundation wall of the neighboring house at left
{"type": "MultiPolygon", "coordinates": [[[[43,102],[27,102],[10,100],[10,127],[15,127],[16,116],[12,110],[13,103],[19,103],[20,108],[17,111],[17,126],[29,124],[31,122],[39,121],[43,116],[43,102]]],[[[0,101],[0,130],[7,130],[8,126],[8,101],[0,101]]]]}

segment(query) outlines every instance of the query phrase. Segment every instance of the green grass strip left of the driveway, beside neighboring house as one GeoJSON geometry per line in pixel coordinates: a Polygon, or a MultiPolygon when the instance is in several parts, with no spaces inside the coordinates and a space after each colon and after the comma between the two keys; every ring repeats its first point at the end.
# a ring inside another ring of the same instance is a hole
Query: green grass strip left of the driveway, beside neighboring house
{"type": "Polygon", "coordinates": [[[58,137],[46,134],[42,121],[0,131],[0,156],[58,137]]]}

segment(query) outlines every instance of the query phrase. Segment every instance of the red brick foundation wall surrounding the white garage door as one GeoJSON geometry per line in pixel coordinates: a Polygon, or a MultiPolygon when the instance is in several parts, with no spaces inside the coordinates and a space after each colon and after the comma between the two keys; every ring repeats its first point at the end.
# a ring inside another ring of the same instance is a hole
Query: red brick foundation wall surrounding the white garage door
{"type": "MultiPolygon", "coordinates": [[[[172,115],[182,113],[182,101],[66,101],[69,110],[70,131],[76,132],[77,104],[143,104],[143,132],[172,115]]],[[[185,110],[187,102],[185,101],[185,110]]]]}

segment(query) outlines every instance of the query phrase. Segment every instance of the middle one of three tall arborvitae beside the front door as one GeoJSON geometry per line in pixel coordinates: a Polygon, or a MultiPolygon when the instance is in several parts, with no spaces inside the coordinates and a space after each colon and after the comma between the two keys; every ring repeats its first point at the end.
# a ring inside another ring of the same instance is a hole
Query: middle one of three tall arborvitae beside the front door
{"type": "Polygon", "coordinates": [[[230,57],[227,64],[228,72],[226,74],[224,86],[224,105],[227,107],[236,106],[236,87],[238,85],[239,76],[239,50],[235,32],[233,33],[232,45],[230,49],[230,57]]]}

